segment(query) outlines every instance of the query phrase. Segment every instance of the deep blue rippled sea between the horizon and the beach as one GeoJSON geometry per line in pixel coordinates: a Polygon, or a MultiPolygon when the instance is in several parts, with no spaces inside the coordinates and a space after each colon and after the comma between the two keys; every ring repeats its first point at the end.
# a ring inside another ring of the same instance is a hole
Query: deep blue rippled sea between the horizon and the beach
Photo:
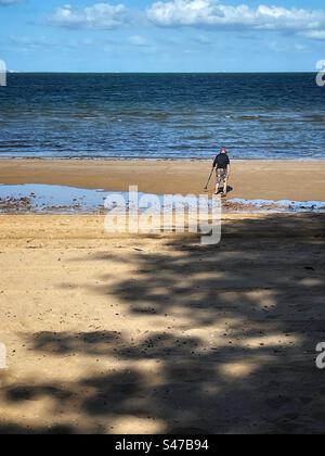
{"type": "Polygon", "coordinates": [[[0,157],[324,159],[314,74],[10,74],[0,157]]]}

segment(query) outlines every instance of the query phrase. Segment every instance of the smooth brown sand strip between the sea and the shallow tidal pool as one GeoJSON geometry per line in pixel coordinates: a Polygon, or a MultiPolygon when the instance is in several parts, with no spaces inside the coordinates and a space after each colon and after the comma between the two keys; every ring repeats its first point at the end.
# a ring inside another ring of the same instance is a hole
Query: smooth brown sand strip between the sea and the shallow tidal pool
{"type": "MultiPolygon", "coordinates": [[[[0,182],[198,194],[210,167],[206,161],[1,160],[0,182]]],[[[233,161],[232,168],[233,198],[325,201],[325,161],[233,161]]]]}

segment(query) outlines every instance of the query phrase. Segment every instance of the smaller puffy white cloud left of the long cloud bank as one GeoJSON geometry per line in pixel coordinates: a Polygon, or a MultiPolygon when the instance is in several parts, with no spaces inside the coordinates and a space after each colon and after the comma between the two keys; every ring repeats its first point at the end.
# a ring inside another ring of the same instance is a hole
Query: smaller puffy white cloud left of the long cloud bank
{"type": "Polygon", "coordinates": [[[82,10],[69,4],[58,8],[48,21],[67,28],[102,28],[119,27],[128,22],[128,10],[123,4],[95,3],[82,10]]]}

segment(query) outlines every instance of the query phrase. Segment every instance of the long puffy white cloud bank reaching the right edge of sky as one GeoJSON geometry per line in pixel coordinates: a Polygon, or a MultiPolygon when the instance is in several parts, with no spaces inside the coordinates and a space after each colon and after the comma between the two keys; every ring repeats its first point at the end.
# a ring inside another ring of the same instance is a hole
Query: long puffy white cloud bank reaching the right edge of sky
{"type": "Polygon", "coordinates": [[[147,9],[147,18],[159,26],[211,26],[261,30],[315,30],[325,25],[325,11],[242,4],[218,0],[171,0],[147,9]]]}

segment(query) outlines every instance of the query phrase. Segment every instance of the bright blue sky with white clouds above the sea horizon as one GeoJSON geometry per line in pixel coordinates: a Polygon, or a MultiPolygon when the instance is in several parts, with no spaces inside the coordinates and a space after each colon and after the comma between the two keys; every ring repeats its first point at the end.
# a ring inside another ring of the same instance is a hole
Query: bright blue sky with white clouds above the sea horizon
{"type": "Polygon", "coordinates": [[[0,0],[0,59],[26,72],[314,71],[322,0],[0,0]]]}

